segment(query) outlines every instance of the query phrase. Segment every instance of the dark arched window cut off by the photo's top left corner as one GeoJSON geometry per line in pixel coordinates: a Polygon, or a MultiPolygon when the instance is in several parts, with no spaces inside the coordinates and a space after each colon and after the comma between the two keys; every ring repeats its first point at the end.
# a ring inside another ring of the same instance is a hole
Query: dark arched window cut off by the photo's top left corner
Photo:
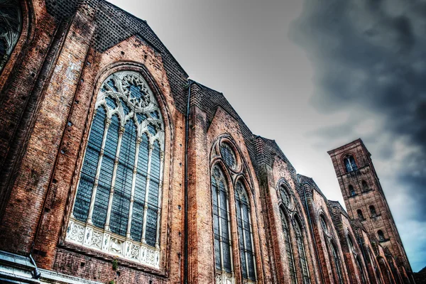
{"type": "Polygon", "coordinates": [[[22,18],[18,0],[0,1],[0,72],[11,57],[21,35],[22,18]]]}

